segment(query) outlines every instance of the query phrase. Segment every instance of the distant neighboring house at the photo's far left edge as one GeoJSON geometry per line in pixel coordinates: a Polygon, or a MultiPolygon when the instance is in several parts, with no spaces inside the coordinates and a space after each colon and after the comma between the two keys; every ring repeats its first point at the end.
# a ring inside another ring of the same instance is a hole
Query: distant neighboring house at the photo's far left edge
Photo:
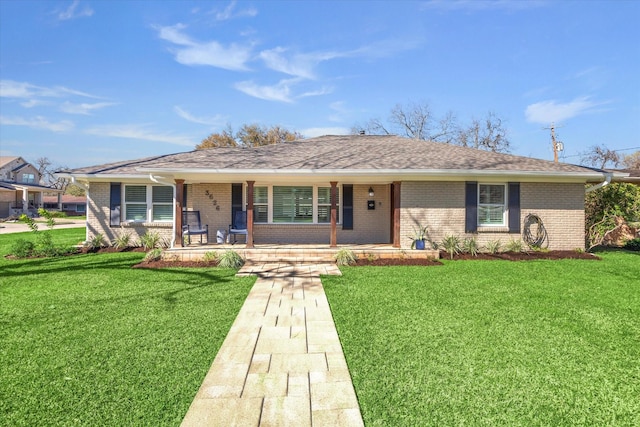
{"type": "Polygon", "coordinates": [[[0,218],[23,213],[36,216],[43,194],[60,190],[40,185],[38,168],[22,157],[0,156],[0,218]]]}

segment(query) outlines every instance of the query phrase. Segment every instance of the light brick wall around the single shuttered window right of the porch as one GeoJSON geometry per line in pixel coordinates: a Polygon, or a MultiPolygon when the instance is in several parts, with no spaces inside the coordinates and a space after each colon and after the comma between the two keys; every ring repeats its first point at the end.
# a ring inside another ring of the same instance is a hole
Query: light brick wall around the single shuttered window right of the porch
{"type": "MultiPolygon", "coordinates": [[[[400,216],[400,242],[411,246],[409,237],[419,224],[429,226],[430,238],[442,241],[446,235],[461,239],[475,236],[480,245],[500,240],[521,240],[521,233],[479,231],[465,233],[464,182],[403,182],[400,216]]],[[[520,185],[520,216],[538,215],[547,230],[549,249],[584,249],[584,185],[522,183],[520,185]]],[[[535,231],[535,230],[534,230],[535,231]]]]}

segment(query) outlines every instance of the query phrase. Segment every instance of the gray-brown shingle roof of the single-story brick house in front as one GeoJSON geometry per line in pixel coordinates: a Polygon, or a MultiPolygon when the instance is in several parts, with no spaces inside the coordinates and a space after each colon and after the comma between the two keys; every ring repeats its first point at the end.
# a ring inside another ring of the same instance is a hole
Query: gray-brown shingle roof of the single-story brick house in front
{"type": "MultiPolygon", "coordinates": [[[[587,181],[604,177],[598,169],[493,153],[398,136],[322,136],[252,148],[212,148],[63,171],[76,177],[170,174],[304,175],[545,175],[587,181]]],[[[245,179],[251,179],[249,177],[245,179]]],[[[400,179],[400,178],[399,178],[400,179]]]]}

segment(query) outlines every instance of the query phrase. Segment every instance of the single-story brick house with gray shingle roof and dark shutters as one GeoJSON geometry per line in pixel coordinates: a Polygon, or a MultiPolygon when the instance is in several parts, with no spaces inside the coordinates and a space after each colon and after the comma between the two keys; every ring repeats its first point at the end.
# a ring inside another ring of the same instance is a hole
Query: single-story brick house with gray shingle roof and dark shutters
{"type": "MultiPolygon", "coordinates": [[[[585,184],[601,170],[401,138],[323,136],[213,148],[73,169],[84,184],[87,239],[156,231],[182,246],[182,210],[200,211],[215,241],[247,211],[255,243],[392,244],[430,237],[521,239],[535,214],[550,249],[583,249],[585,184]],[[335,194],[336,197],[331,197],[335,194]],[[332,215],[335,213],[335,215],[332,215]],[[177,214],[177,215],[176,215],[177,214]]],[[[536,225],[539,226],[539,225],[536,225]]]]}

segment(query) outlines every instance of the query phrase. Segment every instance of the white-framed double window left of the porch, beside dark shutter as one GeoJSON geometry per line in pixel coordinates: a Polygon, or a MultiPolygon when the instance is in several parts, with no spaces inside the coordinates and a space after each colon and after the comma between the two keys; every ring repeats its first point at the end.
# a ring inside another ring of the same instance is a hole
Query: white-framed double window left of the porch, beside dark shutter
{"type": "Polygon", "coordinates": [[[124,187],[126,221],[172,221],[173,188],[159,185],[124,187]]]}

